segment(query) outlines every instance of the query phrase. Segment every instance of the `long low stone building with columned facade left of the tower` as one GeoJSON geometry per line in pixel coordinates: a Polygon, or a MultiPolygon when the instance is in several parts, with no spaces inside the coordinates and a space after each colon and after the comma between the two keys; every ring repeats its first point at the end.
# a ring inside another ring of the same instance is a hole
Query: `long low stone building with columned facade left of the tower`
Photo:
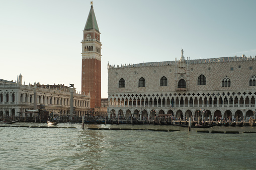
{"type": "MultiPolygon", "coordinates": [[[[0,116],[24,116],[27,109],[33,110],[35,89],[37,108],[45,105],[45,110],[54,115],[70,114],[69,87],[64,84],[23,85],[21,82],[22,75],[17,78],[17,82],[0,79],[0,116]]],[[[84,115],[90,110],[90,95],[74,93],[73,99],[74,115],[84,115]]]]}

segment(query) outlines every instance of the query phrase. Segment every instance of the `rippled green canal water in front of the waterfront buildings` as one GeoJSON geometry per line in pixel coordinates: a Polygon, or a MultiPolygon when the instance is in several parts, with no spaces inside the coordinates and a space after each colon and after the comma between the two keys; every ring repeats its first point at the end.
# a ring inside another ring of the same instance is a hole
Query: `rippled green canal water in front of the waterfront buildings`
{"type": "MultiPolygon", "coordinates": [[[[13,124],[20,126],[24,123],[13,124]]],[[[26,123],[47,126],[46,123],[26,123]]],[[[166,125],[0,127],[0,169],[255,169],[256,127],[209,129],[166,125]],[[91,130],[88,127],[176,129],[91,130]],[[239,131],[239,134],[197,133],[239,131]]]]}

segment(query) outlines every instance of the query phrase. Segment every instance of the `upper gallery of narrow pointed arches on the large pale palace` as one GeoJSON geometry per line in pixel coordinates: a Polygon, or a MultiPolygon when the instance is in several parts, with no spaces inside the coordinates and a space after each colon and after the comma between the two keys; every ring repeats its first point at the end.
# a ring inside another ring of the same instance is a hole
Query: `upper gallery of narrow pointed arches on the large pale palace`
{"type": "Polygon", "coordinates": [[[213,96],[213,97],[110,97],[109,107],[255,107],[254,96],[213,96]]]}

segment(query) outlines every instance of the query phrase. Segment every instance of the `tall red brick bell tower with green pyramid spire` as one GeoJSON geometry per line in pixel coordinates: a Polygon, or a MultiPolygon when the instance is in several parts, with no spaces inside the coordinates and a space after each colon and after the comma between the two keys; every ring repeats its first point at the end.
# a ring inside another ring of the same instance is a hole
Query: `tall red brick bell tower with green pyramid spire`
{"type": "Polygon", "coordinates": [[[101,42],[94,14],[93,2],[83,30],[82,40],[82,94],[91,95],[91,108],[101,107],[101,42]]]}

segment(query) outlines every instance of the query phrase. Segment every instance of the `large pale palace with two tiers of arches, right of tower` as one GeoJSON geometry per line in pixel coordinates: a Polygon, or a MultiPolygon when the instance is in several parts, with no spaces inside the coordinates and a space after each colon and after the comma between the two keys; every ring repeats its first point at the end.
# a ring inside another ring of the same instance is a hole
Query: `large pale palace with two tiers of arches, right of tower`
{"type": "Polygon", "coordinates": [[[108,64],[108,112],[128,116],[253,116],[256,56],[108,64]]]}

